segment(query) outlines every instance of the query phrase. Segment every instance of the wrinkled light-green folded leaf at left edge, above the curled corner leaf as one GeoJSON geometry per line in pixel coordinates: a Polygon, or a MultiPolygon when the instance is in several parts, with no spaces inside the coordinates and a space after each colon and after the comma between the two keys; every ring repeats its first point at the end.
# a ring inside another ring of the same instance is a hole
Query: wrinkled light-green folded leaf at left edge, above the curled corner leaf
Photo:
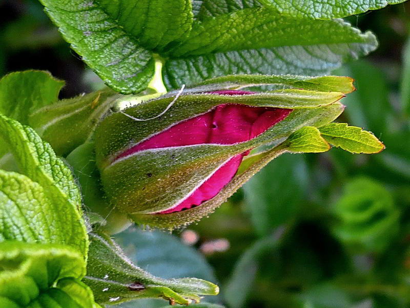
{"type": "Polygon", "coordinates": [[[81,195],[69,167],[32,128],[4,115],[0,115],[0,136],[25,174],[2,171],[3,237],[69,244],[86,258],[88,240],[81,195]],[[8,217],[9,213],[15,214],[8,217]],[[27,232],[21,234],[23,229],[27,232]]]}

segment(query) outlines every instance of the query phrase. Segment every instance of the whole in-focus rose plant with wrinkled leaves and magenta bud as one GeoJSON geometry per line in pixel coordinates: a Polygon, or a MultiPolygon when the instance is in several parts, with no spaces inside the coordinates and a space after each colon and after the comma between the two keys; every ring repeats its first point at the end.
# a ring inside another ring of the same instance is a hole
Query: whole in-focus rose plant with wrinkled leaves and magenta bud
{"type": "Polygon", "coordinates": [[[110,235],[198,221],[285,152],[384,149],[333,122],[355,88],[326,75],[377,46],[334,18],[379,2],[40,2],[108,87],[59,101],[47,72],[0,80],[2,307],[216,295],[142,270],[110,235]]]}

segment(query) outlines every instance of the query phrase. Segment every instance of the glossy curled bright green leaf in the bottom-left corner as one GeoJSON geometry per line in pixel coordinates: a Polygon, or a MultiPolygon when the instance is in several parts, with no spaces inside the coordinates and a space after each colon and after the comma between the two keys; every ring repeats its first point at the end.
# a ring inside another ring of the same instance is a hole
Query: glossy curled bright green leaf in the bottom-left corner
{"type": "Polygon", "coordinates": [[[83,257],[61,245],[0,243],[0,305],[7,308],[97,308],[83,257]]]}

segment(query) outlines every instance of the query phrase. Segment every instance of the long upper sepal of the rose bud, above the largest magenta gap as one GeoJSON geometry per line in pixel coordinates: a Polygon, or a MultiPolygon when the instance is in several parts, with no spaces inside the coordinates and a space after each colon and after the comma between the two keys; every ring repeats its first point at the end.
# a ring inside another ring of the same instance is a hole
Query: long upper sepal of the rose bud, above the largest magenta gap
{"type": "MultiPolygon", "coordinates": [[[[275,90],[252,95],[218,95],[203,92],[206,89],[191,88],[182,92],[175,102],[176,92],[170,92],[162,98],[140,103],[125,109],[124,112],[137,119],[151,119],[160,115],[172,104],[169,110],[151,121],[134,121],[123,113],[113,113],[101,122],[96,129],[96,159],[99,168],[105,168],[120,152],[153,134],[186,119],[209,111],[220,104],[244,104],[250,106],[278,108],[316,108],[332,104],[344,94],[354,90],[352,79],[347,77],[326,76],[309,78],[302,76],[263,76],[240,75],[235,81],[227,76],[226,88],[240,88],[249,85],[281,85],[287,89],[275,90]],[[234,84],[234,86],[232,85],[234,84]],[[302,90],[300,87],[306,87],[302,90]],[[172,103],[173,102],[173,103],[172,103]]],[[[216,90],[224,84],[224,78],[206,82],[209,90],[216,90]]]]}

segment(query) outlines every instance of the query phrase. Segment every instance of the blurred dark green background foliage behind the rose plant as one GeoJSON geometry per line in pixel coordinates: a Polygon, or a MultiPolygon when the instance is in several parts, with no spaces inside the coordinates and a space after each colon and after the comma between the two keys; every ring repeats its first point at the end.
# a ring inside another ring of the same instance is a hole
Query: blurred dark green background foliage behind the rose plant
{"type": "MultiPolygon", "coordinates": [[[[283,155],[188,229],[118,235],[138,265],[217,282],[221,294],[204,300],[230,308],[410,307],[410,3],[348,19],[380,46],[334,72],[357,87],[340,121],[386,149],[283,155]]],[[[25,69],[65,80],[61,98],[101,86],[37,1],[0,0],[0,75],[25,69]]]]}

